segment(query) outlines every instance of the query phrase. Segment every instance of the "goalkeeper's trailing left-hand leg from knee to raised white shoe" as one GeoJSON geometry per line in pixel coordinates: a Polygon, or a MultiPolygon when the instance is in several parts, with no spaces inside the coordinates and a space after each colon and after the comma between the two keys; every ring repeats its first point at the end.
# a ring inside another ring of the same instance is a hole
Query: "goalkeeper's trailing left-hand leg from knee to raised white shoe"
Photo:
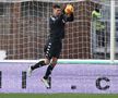
{"type": "Polygon", "coordinates": [[[38,68],[42,68],[42,66],[45,66],[45,65],[48,65],[49,64],[49,59],[44,59],[44,60],[40,60],[38,63],[36,63],[35,65],[31,65],[27,70],[27,75],[31,76],[32,75],[32,72],[35,70],[35,69],[38,69],[38,68]]]}

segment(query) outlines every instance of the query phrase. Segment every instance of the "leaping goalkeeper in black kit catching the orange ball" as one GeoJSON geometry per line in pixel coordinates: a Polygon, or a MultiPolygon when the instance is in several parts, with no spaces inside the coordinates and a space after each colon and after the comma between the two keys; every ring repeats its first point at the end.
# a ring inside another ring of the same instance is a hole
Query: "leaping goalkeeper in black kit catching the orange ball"
{"type": "MultiPolygon", "coordinates": [[[[42,82],[47,88],[49,88],[49,75],[56,66],[61,52],[62,39],[64,38],[64,24],[66,22],[72,22],[74,20],[73,10],[68,11],[69,13],[67,13],[66,8],[61,10],[60,5],[58,4],[55,4],[52,7],[54,14],[49,17],[50,34],[44,49],[46,59],[40,60],[38,63],[30,66],[27,70],[27,74],[28,76],[31,76],[32,71],[34,71],[35,69],[48,65],[47,71],[42,78],[42,82]]],[[[73,7],[71,7],[71,9],[73,9],[73,7]]]]}

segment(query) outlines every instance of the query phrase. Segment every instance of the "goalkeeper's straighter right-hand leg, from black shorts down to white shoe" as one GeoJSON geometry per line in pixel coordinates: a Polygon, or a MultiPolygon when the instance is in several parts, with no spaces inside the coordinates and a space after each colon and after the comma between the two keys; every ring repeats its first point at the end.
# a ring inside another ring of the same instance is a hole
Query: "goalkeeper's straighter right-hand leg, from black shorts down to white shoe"
{"type": "Polygon", "coordinates": [[[54,70],[54,68],[56,66],[57,64],[57,61],[58,61],[58,58],[60,56],[60,52],[61,52],[61,40],[60,41],[57,41],[57,42],[49,42],[49,46],[48,46],[48,52],[46,53],[47,58],[50,59],[50,63],[47,68],[47,71],[44,75],[44,77],[42,78],[42,82],[45,84],[45,86],[47,88],[49,88],[49,76],[54,70]]]}

